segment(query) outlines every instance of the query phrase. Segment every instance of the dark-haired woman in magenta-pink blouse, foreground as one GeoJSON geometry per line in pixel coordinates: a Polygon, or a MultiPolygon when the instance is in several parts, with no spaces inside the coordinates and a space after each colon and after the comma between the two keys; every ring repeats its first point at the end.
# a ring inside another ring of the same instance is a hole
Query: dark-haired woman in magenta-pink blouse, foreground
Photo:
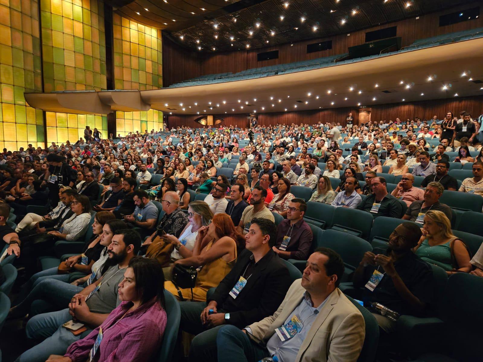
{"type": "Polygon", "coordinates": [[[164,274],[154,259],[134,257],[119,284],[121,304],[84,339],[72,343],[64,357],[49,362],[145,362],[159,348],[166,328],[164,274]],[[91,350],[102,328],[99,348],[91,350]]]}

